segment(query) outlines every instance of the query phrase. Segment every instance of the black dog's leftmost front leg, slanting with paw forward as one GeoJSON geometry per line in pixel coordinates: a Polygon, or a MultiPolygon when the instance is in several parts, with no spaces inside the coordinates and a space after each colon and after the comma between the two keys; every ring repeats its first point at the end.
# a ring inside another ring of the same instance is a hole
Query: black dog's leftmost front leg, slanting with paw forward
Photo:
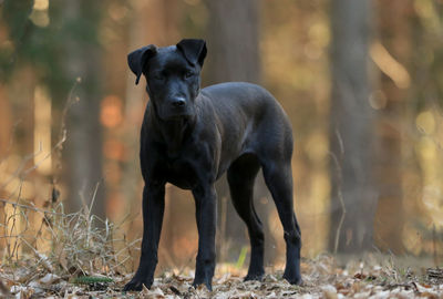
{"type": "Polygon", "coordinates": [[[165,185],[150,184],[143,189],[143,239],[142,255],[134,278],[124,291],[142,290],[143,285],[151,288],[157,266],[157,249],[165,209],[165,185]]]}

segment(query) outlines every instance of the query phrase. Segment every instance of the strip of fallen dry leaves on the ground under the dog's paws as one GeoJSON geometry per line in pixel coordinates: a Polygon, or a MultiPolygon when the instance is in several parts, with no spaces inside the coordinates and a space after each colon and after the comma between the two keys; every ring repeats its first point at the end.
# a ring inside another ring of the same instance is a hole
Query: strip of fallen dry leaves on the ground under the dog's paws
{"type": "Polygon", "coordinates": [[[262,281],[246,281],[244,270],[219,265],[213,291],[192,287],[192,270],[163,272],[151,290],[121,290],[131,275],[112,277],[56,276],[32,267],[1,267],[1,298],[443,298],[443,270],[408,266],[392,257],[354,259],[342,264],[331,256],[303,260],[302,286],[268,271],[262,281]]]}

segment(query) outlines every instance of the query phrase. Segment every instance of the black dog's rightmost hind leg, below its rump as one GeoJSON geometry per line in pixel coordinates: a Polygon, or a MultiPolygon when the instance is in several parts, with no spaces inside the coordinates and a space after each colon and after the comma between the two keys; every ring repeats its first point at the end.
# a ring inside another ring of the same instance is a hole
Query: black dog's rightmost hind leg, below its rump
{"type": "Polygon", "coordinates": [[[268,186],[280,217],[286,241],[286,268],[284,278],[290,283],[301,283],[300,248],[301,235],[293,213],[292,171],[290,162],[266,161],[262,165],[268,186]]]}

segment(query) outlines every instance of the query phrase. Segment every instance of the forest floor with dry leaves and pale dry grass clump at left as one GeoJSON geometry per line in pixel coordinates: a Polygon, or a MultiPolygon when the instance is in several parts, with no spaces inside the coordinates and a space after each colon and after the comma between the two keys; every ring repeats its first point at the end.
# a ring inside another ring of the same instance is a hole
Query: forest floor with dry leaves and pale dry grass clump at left
{"type": "Polygon", "coordinates": [[[19,202],[7,204],[0,223],[0,298],[443,299],[437,252],[434,258],[320,255],[301,260],[301,286],[282,279],[282,265],[268,268],[262,281],[244,282],[243,262],[238,267],[218,264],[212,292],[192,287],[193,268],[158,268],[150,290],[124,293],[123,286],[132,278],[126,264],[134,264],[140,239],[128,243],[119,237],[121,225],[97,219],[89,207],[65,214],[55,200],[48,203],[50,210],[19,202]],[[39,221],[30,221],[33,214],[42,215],[40,227],[39,221]]]}

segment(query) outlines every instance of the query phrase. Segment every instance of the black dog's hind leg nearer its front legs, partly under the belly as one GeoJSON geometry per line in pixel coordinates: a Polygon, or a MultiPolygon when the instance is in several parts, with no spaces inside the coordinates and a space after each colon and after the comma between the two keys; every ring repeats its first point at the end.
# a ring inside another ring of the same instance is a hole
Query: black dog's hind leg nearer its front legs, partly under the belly
{"type": "Polygon", "coordinates": [[[250,264],[245,280],[259,280],[265,274],[265,235],[261,221],[254,208],[254,182],[259,168],[260,164],[257,157],[253,154],[246,154],[237,158],[227,172],[234,207],[248,227],[250,239],[250,264]]]}

